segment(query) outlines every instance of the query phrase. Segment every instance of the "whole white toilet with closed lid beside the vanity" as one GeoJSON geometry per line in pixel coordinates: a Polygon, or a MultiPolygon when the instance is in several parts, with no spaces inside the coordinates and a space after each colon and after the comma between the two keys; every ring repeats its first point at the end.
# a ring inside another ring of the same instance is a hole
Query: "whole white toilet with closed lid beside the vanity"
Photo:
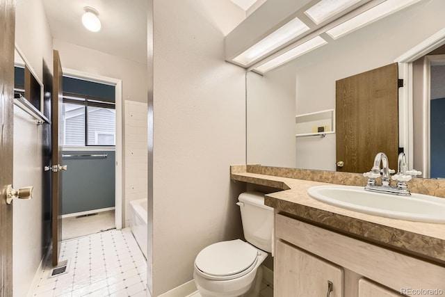
{"type": "Polygon", "coordinates": [[[273,208],[264,205],[264,194],[241,193],[244,237],[213,243],[195,259],[193,278],[202,297],[257,297],[263,271],[261,263],[273,248],[273,208]]]}

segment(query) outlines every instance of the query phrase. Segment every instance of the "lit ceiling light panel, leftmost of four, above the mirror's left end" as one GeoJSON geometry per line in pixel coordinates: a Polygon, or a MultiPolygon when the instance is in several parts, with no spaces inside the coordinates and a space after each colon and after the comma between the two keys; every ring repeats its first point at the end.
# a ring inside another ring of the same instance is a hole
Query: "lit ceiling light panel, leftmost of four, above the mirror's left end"
{"type": "Polygon", "coordinates": [[[234,61],[244,66],[248,65],[257,60],[257,58],[268,54],[268,52],[284,45],[286,42],[289,42],[307,30],[309,30],[309,27],[296,17],[295,19],[292,19],[291,22],[281,26],[280,29],[270,33],[266,38],[263,38],[249,49],[246,49],[242,54],[234,58],[234,61]]]}

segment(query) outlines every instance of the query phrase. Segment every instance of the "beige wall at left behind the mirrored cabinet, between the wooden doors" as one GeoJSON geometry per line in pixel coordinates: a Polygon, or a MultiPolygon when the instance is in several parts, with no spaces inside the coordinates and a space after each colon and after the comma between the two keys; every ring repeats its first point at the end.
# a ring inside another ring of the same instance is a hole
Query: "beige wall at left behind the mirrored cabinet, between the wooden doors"
{"type": "MultiPolygon", "coordinates": [[[[52,65],[52,38],[40,0],[17,0],[15,42],[42,81],[43,60],[52,65]]],[[[51,67],[52,71],[52,67],[51,67]]],[[[14,108],[14,186],[34,186],[33,200],[13,202],[13,290],[26,296],[44,255],[42,126],[14,108]]]]}

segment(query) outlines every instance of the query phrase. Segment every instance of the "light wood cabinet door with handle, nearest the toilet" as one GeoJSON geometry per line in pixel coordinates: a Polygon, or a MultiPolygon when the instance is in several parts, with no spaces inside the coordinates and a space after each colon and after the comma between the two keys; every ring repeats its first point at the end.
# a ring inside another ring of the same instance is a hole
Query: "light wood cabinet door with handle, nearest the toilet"
{"type": "Polygon", "coordinates": [[[343,297],[343,269],[282,241],[276,242],[275,297],[343,297]],[[328,294],[328,282],[332,291],[328,294]]]}

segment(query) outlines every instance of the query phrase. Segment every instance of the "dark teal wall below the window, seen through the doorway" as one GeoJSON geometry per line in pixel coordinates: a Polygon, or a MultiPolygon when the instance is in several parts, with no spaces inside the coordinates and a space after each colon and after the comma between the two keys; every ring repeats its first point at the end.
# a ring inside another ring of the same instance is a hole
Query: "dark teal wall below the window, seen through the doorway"
{"type": "Polygon", "coordinates": [[[115,206],[115,152],[63,151],[63,154],[108,154],[106,158],[63,158],[63,214],[115,206]]]}

